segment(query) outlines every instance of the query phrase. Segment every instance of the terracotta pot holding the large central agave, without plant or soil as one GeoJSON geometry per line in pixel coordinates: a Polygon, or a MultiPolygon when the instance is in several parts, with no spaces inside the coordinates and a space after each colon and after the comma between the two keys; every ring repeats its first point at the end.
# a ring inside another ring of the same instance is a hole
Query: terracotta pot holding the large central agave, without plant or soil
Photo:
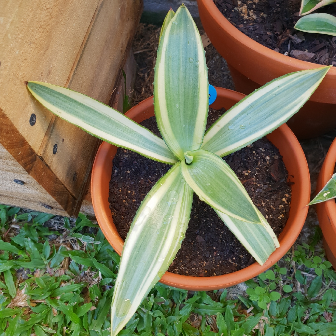
{"type": "MultiPolygon", "coordinates": [[[[245,96],[242,93],[228,89],[216,88],[216,90],[217,99],[211,105],[215,109],[229,109],[245,96]]],[[[145,99],[133,107],[127,112],[127,116],[136,122],[141,122],[154,116],[153,97],[145,99]]],[[[291,175],[290,180],[294,182],[292,184],[292,202],[289,218],[279,237],[280,248],[271,254],[263,266],[255,262],[231,274],[202,278],[166,272],[161,279],[162,283],[190,290],[214,290],[233,286],[265,271],[276,263],[293,245],[301,231],[308,210],[308,207],[305,206],[309,202],[310,196],[308,166],[298,140],[286,124],[267,135],[267,138],[279,149],[288,173],[291,175]]],[[[99,226],[113,248],[118,254],[121,254],[124,241],[119,236],[113,223],[108,201],[112,160],[116,152],[116,146],[106,142],[101,144],[93,164],[91,192],[93,208],[99,226]]]]}

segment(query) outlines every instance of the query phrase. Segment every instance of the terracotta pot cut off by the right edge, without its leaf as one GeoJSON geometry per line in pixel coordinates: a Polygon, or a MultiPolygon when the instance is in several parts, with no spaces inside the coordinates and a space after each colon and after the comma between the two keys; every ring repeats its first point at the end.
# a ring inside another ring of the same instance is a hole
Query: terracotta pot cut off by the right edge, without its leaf
{"type": "MultiPolygon", "coordinates": [[[[316,192],[318,193],[330,180],[334,173],[336,162],[336,139],[331,144],[327,156],[323,162],[319,178],[317,180],[316,192]]],[[[329,200],[316,205],[316,212],[319,218],[320,227],[323,232],[323,245],[328,260],[336,269],[336,203],[329,200]]]]}

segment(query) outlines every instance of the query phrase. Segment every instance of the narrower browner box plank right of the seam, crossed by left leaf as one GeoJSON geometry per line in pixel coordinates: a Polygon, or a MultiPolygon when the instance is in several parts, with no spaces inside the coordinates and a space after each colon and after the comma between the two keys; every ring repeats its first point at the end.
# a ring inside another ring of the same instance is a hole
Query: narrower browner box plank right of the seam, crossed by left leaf
{"type": "MultiPolygon", "coordinates": [[[[128,56],[141,10],[140,0],[103,0],[99,4],[69,88],[109,103],[120,80],[119,74],[128,56]]],[[[97,144],[97,140],[83,130],[55,118],[39,155],[70,193],[80,198],[80,191],[91,172],[97,144]],[[57,153],[53,154],[55,144],[57,153]]]]}

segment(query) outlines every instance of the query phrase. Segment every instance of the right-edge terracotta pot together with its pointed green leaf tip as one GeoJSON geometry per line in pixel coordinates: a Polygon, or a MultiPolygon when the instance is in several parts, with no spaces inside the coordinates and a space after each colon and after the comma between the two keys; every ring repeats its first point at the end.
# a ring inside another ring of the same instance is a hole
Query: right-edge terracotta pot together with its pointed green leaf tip
{"type": "Polygon", "coordinates": [[[316,185],[317,195],[308,204],[316,204],[316,212],[323,233],[323,245],[328,260],[336,269],[336,139],[323,162],[316,185]]]}

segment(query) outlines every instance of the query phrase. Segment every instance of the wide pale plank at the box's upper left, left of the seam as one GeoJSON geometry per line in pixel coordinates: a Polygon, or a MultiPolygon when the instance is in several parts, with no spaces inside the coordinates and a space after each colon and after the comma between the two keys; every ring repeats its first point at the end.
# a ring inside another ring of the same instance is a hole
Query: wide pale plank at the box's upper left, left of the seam
{"type": "Polygon", "coordinates": [[[35,102],[24,82],[66,84],[98,3],[0,0],[0,108],[36,153],[52,114],[35,102]]]}

